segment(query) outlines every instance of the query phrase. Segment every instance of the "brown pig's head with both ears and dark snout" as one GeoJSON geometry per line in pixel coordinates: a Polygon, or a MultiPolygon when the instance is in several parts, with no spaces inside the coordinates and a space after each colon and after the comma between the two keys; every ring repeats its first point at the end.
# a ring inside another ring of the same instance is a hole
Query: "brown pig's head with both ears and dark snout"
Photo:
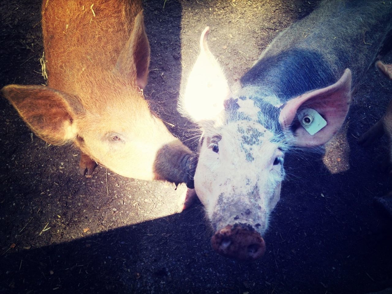
{"type": "Polygon", "coordinates": [[[48,143],[73,142],[122,176],[193,187],[196,153],[151,114],[140,90],[147,83],[149,53],[141,12],[111,71],[87,69],[64,86],[49,68],[50,87],[8,85],[2,94],[48,143]]]}

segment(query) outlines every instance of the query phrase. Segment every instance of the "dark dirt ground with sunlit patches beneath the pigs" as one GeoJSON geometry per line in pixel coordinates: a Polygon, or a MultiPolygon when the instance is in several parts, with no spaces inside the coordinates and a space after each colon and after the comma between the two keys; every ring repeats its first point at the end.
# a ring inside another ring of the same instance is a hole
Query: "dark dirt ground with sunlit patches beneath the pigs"
{"type": "MultiPolygon", "coordinates": [[[[0,2],[0,87],[45,83],[40,2],[0,2]]],[[[169,130],[195,150],[198,132],[176,102],[203,28],[211,26],[211,51],[233,83],[317,1],[143,5],[151,44],[145,94],[169,130]]],[[[392,54],[384,60],[391,63],[392,54]]],[[[381,168],[387,143],[357,144],[390,97],[392,83],[372,66],[326,155],[288,156],[264,236],[267,251],[252,263],[212,250],[200,202],[176,212],[185,187],[123,178],[105,167],[84,178],[73,146],[48,146],[1,99],[0,293],[359,294],[392,286],[391,224],[372,204],[392,188],[381,168]]]]}

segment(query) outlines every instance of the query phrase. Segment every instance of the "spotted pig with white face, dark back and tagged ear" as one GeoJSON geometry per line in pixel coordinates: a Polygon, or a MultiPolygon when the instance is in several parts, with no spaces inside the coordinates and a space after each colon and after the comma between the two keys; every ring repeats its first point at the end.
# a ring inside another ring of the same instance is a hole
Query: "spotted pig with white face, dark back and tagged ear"
{"type": "Polygon", "coordinates": [[[179,109],[203,131],[194,184],[218,253],[263,256],[285,154],[321,146],[339,131],[353,89],[390,33],[391,14],[390,2],[323,1],[281,32],[233,86],[205,28],[179,109]]]}

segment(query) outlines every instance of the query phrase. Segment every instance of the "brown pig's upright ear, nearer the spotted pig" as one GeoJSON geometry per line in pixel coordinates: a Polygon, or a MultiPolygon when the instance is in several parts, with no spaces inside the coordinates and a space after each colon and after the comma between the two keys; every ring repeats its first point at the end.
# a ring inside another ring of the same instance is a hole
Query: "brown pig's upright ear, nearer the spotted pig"
{"type": "Polygon", "coordinates": [[[118,56],[114,69],[128,80],[136,80],[136,85],[140,89],[144,89],[147,85],[149,64],[150,44],[145,32],[143,11],[140,11],[135,18],[131,35],[118,56]]]}

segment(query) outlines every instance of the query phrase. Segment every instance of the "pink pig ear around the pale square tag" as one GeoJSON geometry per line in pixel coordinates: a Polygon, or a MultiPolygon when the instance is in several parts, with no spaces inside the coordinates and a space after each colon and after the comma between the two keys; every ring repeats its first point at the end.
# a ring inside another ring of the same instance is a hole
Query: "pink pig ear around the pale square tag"
{"type": "Polygon", "coordinates": [[[294,144],[312,147],[327,143],[343,124],[351,102],[351,71],[346,69],[338,82],[329,87],[314,90],[291,99],[279,115],[283,129],[297,127],[294,144]],[[310,135],[298,122],[297,112],[304,108],[316,110],[327,121],[327,125],[310,135]],[[295,122],[296,123],[293,123],[295,122]]]}

